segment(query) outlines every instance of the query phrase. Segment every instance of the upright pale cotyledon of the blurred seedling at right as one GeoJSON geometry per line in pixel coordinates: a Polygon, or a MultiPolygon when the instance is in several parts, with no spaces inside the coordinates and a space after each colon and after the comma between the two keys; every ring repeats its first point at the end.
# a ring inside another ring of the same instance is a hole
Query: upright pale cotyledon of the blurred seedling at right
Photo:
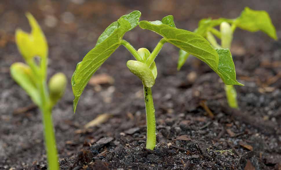
{"type": "Polygon", "coordinates": [[[222,48],[230,49],[232,41],[232,30],[231,26],[227,22],[222,22],[220,24],[220,33],[221,33],[221,45],[222,48]]]}

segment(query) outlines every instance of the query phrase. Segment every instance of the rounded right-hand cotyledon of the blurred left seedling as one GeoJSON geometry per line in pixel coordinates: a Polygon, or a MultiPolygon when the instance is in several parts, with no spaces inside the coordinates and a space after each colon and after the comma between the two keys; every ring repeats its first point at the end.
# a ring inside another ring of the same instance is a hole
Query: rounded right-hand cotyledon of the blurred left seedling
{"type": "Polygon", "coordinates": [[[67,79],[63,73],[56,73],[49,80],[49,93],[52,103],[56,103],[65,91],[67,79]]]}

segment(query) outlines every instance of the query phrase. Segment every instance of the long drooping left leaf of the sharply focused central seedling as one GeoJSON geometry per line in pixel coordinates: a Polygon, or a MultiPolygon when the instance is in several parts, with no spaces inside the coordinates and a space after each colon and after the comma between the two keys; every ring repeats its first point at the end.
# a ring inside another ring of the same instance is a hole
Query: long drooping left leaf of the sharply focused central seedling
{"type": "Polygon", "coordinates": [[[121,45],[124,34],[138,25],[139,11],[131,12],[118,19],[105,29],[105,32],[98,38],[96,46],[90,50],[77,64],[72,75],[72,91],[75,96],[73,101],[74,112],[78,100],[86,87],[91,76],[105,62],[108,57],[121,45]]]}

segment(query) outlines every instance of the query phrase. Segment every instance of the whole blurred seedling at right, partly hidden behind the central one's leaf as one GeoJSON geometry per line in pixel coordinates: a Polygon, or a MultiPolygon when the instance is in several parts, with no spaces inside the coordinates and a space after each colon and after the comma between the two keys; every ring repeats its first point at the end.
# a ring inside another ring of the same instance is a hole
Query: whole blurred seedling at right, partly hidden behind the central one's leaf
{"type": "MultiPolygon", "coordinates": [[[[233,32],[237,27],[250,32],[262,31],[277,40],[276,30],[269,14],[266,11],[251,10],[248,7],[236,19],[202,19],[194,32],[205,37],[215,48],[230,49],[233,32]],[[218,25],[220,25],[220,31],[214,28],[218,25]],[[214,35],[221,40],[221,45],[217,43],[214,35]]],[[[178,70],[183,66],[189,55],[188,52],[179,51],[178,70]]],[[[238,108],[237,93],[233,85],[225,85],[225,92],[228,105],[232,108],[238,108]]]]}

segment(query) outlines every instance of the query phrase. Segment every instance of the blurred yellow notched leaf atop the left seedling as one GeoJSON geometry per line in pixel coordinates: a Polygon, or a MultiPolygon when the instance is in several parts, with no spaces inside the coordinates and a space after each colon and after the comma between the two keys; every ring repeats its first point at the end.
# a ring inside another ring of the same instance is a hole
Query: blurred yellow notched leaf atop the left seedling
{"type": "Polygon", "coordinates": [[[47,58],[48,44],[44,33],[30,13],[27,13],[26,17],[28,18],[32,29],[31,33],[26,33],[21,29],[17,29],[15,35],[17,47],[21,55],[26,61],[30,60],[34,56],[47,58]]]}

